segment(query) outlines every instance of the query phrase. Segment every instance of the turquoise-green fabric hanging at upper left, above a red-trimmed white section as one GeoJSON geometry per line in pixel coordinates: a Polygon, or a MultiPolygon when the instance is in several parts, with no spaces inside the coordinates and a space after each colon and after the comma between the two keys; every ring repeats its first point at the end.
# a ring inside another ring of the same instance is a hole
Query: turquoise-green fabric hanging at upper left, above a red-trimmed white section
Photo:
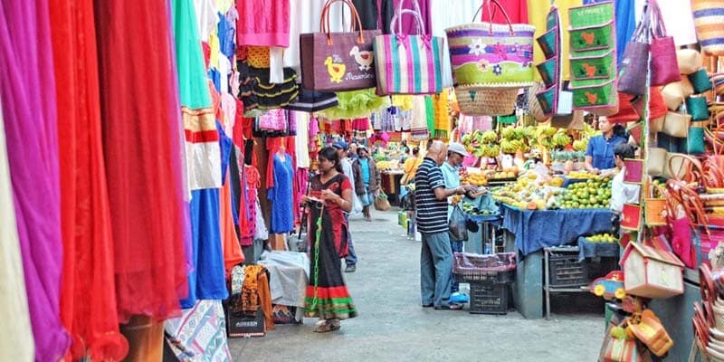
{"type": "Polygon", "coordinates": [[[171,0],[171,6],[173,6],[176,71],[181,106],[192,110],[209,108],[212,103],[206,82],[204,55],[201,51],[194,3],[192,0],[171,0]]]}

